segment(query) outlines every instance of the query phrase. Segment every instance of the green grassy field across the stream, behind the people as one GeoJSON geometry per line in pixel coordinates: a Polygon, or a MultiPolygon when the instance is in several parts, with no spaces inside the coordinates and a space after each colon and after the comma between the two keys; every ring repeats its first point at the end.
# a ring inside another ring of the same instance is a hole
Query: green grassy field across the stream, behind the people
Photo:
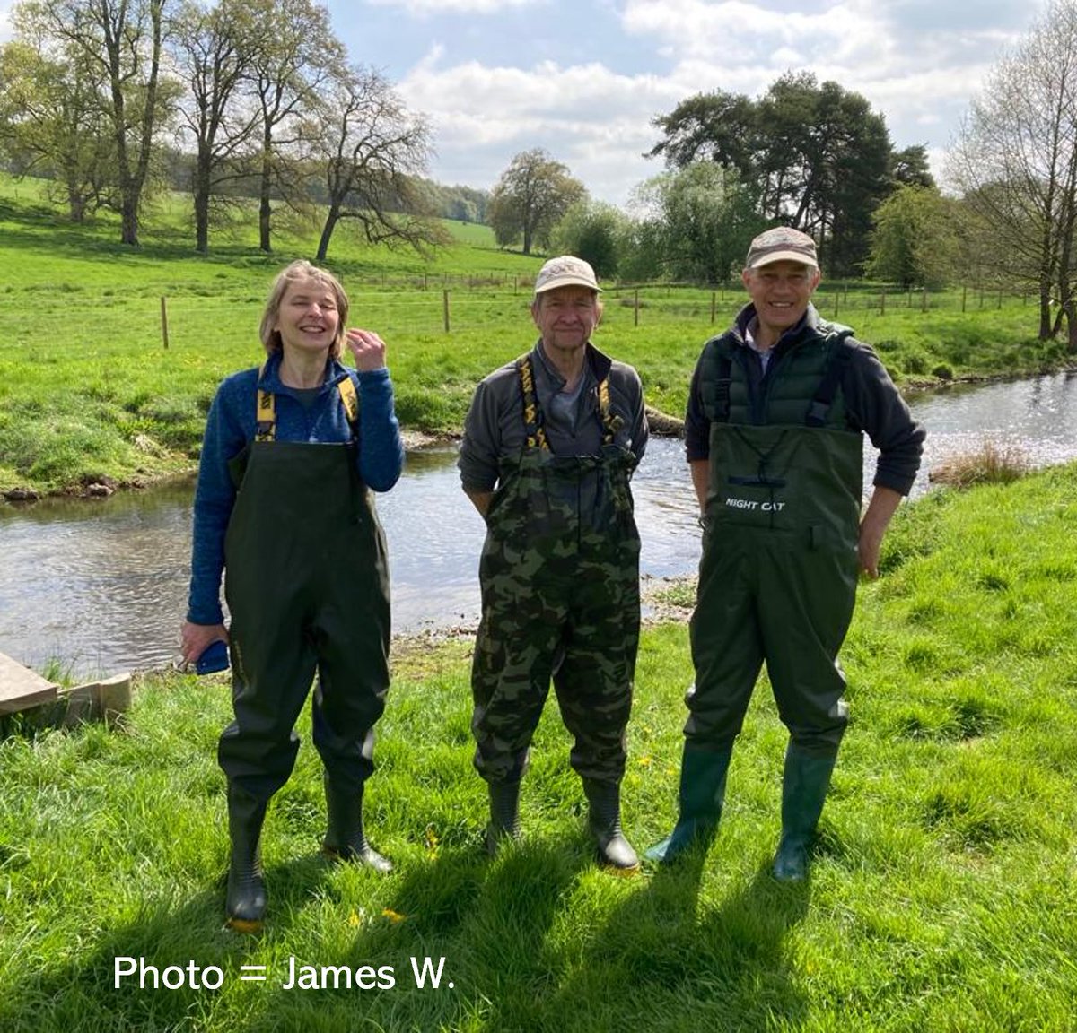
{"type": "MultiPolygon", "coordinates": [[[[263,357],[256,330],[272,277],[311,256],[317,232],[283,227],[265,255],[248,214],[198,256],[188,223],[185,199],[159,198],[132,251],[116,242],[110,217],[72,226],[39,183],[0,176],[0,492],[137,485],[194,467],[218,383],[263,357]]],[[[542,256],[498,250],[489,227],[449,229],[456,244],[431,261],[340,231],[326,265],[348,287],[352,322],[389,343],[405,429],[451,437],[475,383],[530,346],[542,256]]],[[[742,292],[609,284],[604,297],[597,343],[640,370],[652,406],[682,414],[700,346],[728,325],[742,292]]],[[[1035,340],[1027,299],[996,300],[965,299],[962,313],[961,292],[950,292],[923,312],[910,295],[881,314],[870,284],[824,281],[816,296],[903,384],[1068,362],[1061,344],[1035,340]]]]}

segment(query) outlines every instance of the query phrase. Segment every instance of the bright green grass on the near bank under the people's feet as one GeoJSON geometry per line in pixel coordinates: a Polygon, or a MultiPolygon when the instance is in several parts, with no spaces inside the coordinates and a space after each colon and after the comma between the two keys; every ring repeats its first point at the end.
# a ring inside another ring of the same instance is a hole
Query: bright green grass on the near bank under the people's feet
{"type": "MultiPolygon", "coordinates": [[[[270,912],[255,938],[221,929],[223,678],[143,676],[122,731],[11,735],[0,1029],[1075,1030],[1075,519],[1077,466],[938,489],[898,512],[842,653],[852,723],[801,887],[768,874],[785,735],[765,679],[710,852],[617,879],[591,860],[553,704],[524,841],[485,857],[470,642],[397,650],[367,794],[396,871],[318,857],[304,719],[266,826],[270,912]],[[117,957],[216,966],[222,985],[115,988],[117,957]],[[391,968],[394,985],[285,990],[290,958],[320,986],[321,966],[369,966],[369,981],[391,968]],[[439,989],[416,987],[412,958],[445,959],[439,989]],[[244,965],[268,978],[242,981],[244,965]]],[[[675,816],[690,680],[685,625],[648,628],[624,792],[640,848],[675,816]]]]}

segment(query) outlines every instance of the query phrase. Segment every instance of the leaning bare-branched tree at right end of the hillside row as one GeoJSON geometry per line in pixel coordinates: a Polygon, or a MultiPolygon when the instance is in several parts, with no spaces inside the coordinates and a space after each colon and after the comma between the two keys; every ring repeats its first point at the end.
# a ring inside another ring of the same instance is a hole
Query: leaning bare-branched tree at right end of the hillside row
{"type": "Polygon", "coordinates": [[[423,252],[446,241],[418,178],[426,167],[430,130],[381,75],[361,67],[336,75],[316,137],[328,196],[319,261],[342,218],[355,221],[372,243],[423,252]]]}

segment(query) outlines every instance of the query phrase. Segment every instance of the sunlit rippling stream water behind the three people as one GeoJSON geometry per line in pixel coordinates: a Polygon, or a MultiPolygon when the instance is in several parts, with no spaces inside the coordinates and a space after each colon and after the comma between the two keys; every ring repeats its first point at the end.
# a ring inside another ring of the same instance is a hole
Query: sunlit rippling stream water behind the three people
{"type": "MultiPolygon", "coordinates": [[[[927,427],[929,470],[987,440],[1037,466],[1077,457],[1077,378],[955,388],[911,400],[927,427]]],[[[875,455],[866,457],[870,483],[875,455]]],[[[696,503],[681,442],[655,439],[633,479],[646,578],[690,574],[699,560],[696,503]]],[[[76,676],[168,663],[186,610],[191,483],[102,500],[0,506],[0,652],[76,676]]],[[[460,491],[456,453],[410,453],[378,496],[389,539],[394,631],[477,619],[482,522],[460,491]]]]}

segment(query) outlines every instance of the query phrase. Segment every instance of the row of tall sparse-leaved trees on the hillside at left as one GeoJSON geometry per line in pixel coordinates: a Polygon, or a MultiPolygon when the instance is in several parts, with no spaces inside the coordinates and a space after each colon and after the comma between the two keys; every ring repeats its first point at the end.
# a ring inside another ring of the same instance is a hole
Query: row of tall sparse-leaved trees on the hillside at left
{"type": "Polygon", "coordinates": [[[145,197],[192,197],[209,249],[239,198],[258,241],[280,220],[351,221],[372,243],[429,252],[439,217],[480,220],[481,192],[425,178],[431,128],[356,63],[313,0],[22,0],[0,47],[0,147],[50,179],[71,218],[120,213],[137,244],[145,197]]]}

